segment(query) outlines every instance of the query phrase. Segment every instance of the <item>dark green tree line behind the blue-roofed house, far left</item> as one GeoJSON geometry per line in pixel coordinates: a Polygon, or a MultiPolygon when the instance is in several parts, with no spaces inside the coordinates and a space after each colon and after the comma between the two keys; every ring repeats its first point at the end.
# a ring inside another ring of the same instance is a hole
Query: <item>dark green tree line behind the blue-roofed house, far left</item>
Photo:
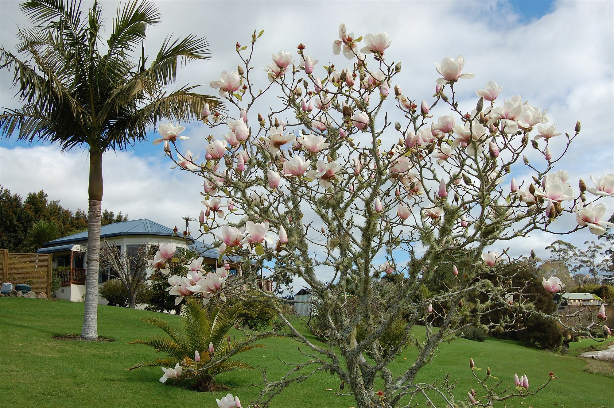
{"type": "MultiPolygon", "coordinates": [[[[122,212],[103,211],[101,225],[128,221],[122,212]]],[[[87,213],[74,213],[50,200],[43,190],[26,199],[0,185],[0,248],[11,252],[34,252],[42,242],[87,231],[87,213]]]]}

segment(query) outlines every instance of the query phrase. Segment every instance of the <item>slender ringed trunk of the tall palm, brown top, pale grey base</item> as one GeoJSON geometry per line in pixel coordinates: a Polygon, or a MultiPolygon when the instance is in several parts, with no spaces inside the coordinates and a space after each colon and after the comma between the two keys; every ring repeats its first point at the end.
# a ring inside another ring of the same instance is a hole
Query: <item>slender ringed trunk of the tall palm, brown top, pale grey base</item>
{"type": "Polygon", "coordinates": [[[103,201],[103,154],[90,150],[90,186],[87,217],[87,271],[85,274],[84,340],[98,339],[98,267],[100,255],[100,221],[103,201]]]}

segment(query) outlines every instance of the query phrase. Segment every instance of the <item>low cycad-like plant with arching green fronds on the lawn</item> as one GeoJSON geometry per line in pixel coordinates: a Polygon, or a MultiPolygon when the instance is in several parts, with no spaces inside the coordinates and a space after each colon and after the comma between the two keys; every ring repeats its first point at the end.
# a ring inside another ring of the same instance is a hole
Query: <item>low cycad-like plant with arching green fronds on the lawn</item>
{"type": "Polygon", "coordinates": [[[253,343],[268,337],[268,334],[258,334],[241,339],[235,336],[231,338],[229,332],[235,326],[241,308],[240,304],[228,306],[222,301],[211,301],[203,305],[202,302],[190,299],[181,307],[182,331],[163,318],[144,318],[143,321],[162,329],[168,337],[160,336],[131,343],[149,345],[158,352],[166,353],[168,357],[137,364],[130,370],[155,366],[173,368],[179,364],[182,367],[179,379],[195,380],[198,391],[216,390],[216,375],[236,369],[252,369],[249,364],[231,360],[231,357],[255,347],[264,347],[253,343]]]}

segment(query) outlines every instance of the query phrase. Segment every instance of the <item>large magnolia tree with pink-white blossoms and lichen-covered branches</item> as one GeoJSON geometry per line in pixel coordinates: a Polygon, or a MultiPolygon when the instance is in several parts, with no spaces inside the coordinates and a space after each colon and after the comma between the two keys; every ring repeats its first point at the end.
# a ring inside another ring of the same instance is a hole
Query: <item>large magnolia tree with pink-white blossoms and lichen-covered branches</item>
{"type": "MultiPolygon", "coordinates": [[[[494,382],[489,371],[480,376],[473,361],[470,368],[483,385],[479,393],[454,390],[448,379],[416,378],[442,341],[466,326],[492,326],[481,319],[489,312],[539,313],[525,288],[511,284],[507,271],[518,261],[508,253],[511,239],[585,228],[599,235],[612,225],[598,201],[613,196],[614,175],[600,177],[594,187],[580,180],[578,190],[557,169],[580,123],[573,133],[559,133],[545,111],[520,96],[500,102],[502,89],[494,82],[476,91],[475,109],[461,110],[457,93],[466,92],[473,78],[464,72],[462,56],[435,64],[439,77],[432,97],[406,96],[394,85],[401,64],[385,58],[387,34],[355,37],[344,25],[333,53],[343,52],[348,67],[318,67],[299,44],[296,55],[272,56],[262,90],[255,83],[265,74],[251,66],[261,35],[254,33],[249,47],[237,43],[238,70],[223,71],[211,82],[236,113],[205,109],[204,123],[223,135],[206,138],[204,161],[182,150],[182,126],[161,125],[161,139],[154,142],[163,142],[177,166],[203,177],[196,236],[209,236],[223,255],[244,259],[239,279],[228,280],[223,268],[170,277],[171,293],[205,302],[229,294],[246,302],[268,298],[307,346],[308,360],[292,362],[286,377],[273,381],[264,375],[252,406],[265,406],[289,383],[319,370],[337,375],[360,408],[408,407],[416,398],[439,406],[490,406],[540,390],[529,388],[526,375],[512,380],[509,373],[508,382],[494,382]],[[271,93],[278,106],[254,112],[257,101],[271,93]],[[433,110],[443,115],[433,118],[433,110]],[[555,146],[553,140],[563,143],[555,146]],[[511,172],[529,176],[515,180],[511,172]],[[577,223],[565,229],[556,222],[565,217],[577,223]],[[326,347],[293,326],[282,307],[289,301],[258,285],[262,277],[277,282],[287,275],[309,285],[313,298],[306,302],[324,325],[326,347]],[[472,303],[470,313],[464,301],[472,303]],[[401,318],[403,338],[384,347],[383,333],[401,318]],[[424,326],[426,337],[413,336],[416,325],[424,326]],[[392,372],[389,363],[408,344],[416,347],[416,360],[404,372],[392,372]]],[[[544,288],[563,289],[556,278],[544,288]]],[[[589,326],[601,325],[603,317],[595,310],[589,326]]],[[[573,330],[588,333],[586,326],[573,330]]],[[[545,377],[540,382],[556,379],[545,377]]],[[[241,405],[231,395],[218,403],[241,405]]]]}

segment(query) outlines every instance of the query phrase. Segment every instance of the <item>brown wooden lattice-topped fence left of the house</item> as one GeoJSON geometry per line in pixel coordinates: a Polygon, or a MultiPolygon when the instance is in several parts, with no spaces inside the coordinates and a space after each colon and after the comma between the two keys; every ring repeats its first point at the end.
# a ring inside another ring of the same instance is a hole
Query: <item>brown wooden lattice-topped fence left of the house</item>
{"type": "Polygon", "coordinates": [[[51,260],[50,253],[15,253],[0,249],[0,276],[2,283],[12,280],[14,285],[30,284],[36,294],[41,292],[51,297],[51,260]]]}

